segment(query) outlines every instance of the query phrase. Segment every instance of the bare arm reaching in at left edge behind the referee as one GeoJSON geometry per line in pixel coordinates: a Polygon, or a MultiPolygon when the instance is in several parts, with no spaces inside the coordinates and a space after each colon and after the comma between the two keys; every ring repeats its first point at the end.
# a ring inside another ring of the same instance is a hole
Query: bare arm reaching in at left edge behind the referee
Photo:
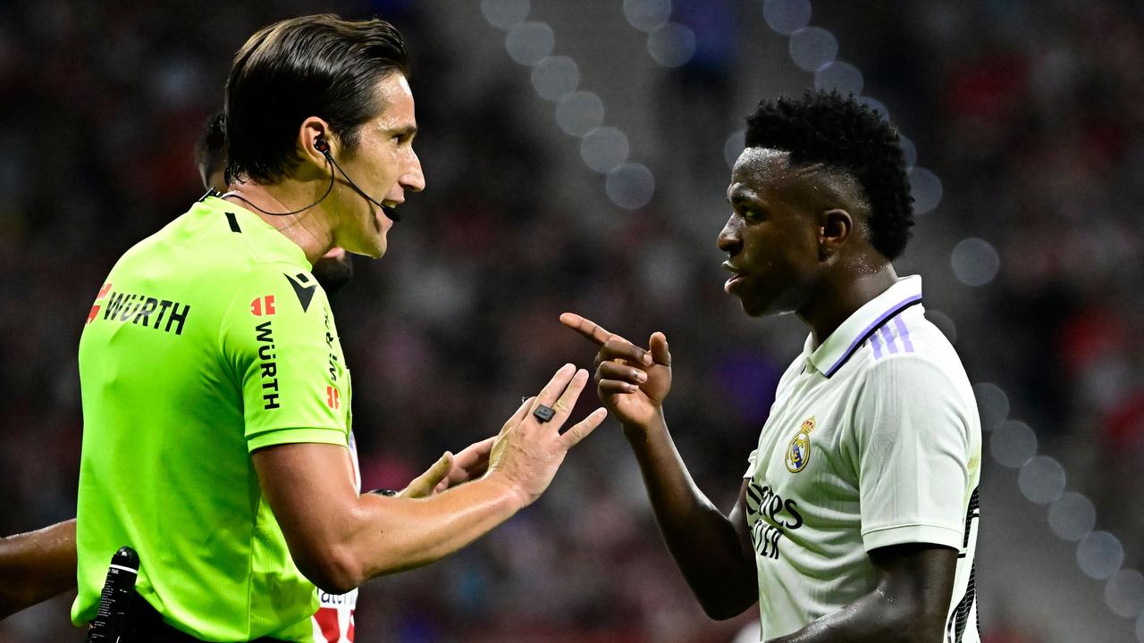
{"type": "Polygon", "coordinates": [[[0,618],[76,587],[76,521],[0,539],[0,618]]]}

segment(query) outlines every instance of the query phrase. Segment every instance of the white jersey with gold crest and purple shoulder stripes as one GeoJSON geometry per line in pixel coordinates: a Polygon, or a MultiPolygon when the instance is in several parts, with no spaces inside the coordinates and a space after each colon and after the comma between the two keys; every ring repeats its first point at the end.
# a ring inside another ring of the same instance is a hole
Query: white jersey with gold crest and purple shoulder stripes
{"type": "Polygon", "coordinates": [[[868,594],[867,551],[958,550],[946,643],[979,643],[974,590],[982,430],[958,354],[906,277],[784,373],[745,477],[762,641],[868,594]]]}

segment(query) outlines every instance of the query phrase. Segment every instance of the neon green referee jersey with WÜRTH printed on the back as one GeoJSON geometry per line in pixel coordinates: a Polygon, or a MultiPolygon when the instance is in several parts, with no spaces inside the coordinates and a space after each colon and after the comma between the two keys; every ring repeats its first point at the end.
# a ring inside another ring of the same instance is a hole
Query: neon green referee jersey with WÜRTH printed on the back
{"type": "Polygon", "coordinates": [[[345,445],[350,374],[302,249],[207,197],[119,260],[79,347],[84,398],[72,620],[95,617],[112,554],[206,641],[309,641],[315,588],[249,453],[345,445]]]}

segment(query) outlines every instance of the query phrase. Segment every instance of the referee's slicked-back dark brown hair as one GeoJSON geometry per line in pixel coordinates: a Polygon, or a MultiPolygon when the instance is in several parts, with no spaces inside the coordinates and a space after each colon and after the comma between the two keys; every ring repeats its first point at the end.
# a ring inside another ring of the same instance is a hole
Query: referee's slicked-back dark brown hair
{"type": "Polygon", "coordinates": [[[408,55],[402,34],[381,19],[320,14],[259,30],[227,79],[228,177],[280,182],[297,166],[297,129],[311,116],[352,154],[362,125],[386,106],[378,82],[394,72],[408,76],[408,55]]]}

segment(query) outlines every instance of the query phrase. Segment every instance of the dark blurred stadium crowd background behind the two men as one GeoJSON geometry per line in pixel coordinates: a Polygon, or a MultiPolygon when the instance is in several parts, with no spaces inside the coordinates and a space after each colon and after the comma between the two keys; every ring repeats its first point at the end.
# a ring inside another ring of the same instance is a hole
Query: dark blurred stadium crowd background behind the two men
{"type": "MultiPolygon", "coordinates": [[[[674,435],[729,506],[804,333],[721,291],[726,160],[757,100],[837,86],[911,141],[924,212],[899,273],[924,276],[977,383],[986,640],[1144,641],[1138,2],[254,5],[0,7],[0,532],[73,515],[82,320],[119,254],[201,193],[191,149],[231,54],[333,10],[406,34],[428,178],[334,302],[366,486],[403,485],[563,362],[590,364],[557,323],[574,310],[667,333],[674,435]]],[[[81,640],[69,601],[0,641],[81,640]]],[[[754,618],[702,617],[610,422],[477,546],[364,588],[357,636],[718,642],[754,618]]]]}

